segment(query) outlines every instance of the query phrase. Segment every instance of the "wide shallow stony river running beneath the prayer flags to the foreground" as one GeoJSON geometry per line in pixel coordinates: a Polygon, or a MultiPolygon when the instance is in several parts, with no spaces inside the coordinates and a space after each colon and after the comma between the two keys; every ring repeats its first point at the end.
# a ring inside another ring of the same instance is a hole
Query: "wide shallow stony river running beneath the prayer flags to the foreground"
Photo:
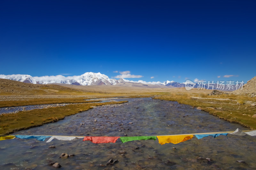
{"type": "MultiPolygon", "coordinates": [[[[191,106],[151,98],[127,98],[120,105],[106,105],[68,116],[56,123],[16,132],[15,135],[146,136],[249,130],[191,106]],[[97,120],[97,121],[94,121],[97,120]],[[128,124],[132,122],[132,124],[128,124]],[[82,124],[82,125],[81,125],[82,124]],[[123,124],[123,125],[122,125],[123,124]],[[169,126],[168,126],[169,125],[169,126]],[[97,128],[98,130],[93,130],[97,128]]],[[[161,145],[158,140],[95,144],[76,139],[50,143],[36,139],[0,141],[1,169],[255,169],[255,136],[228,135],[161,145]],[[55,145],[56,148],[49,148],[55,145]],[[138,149],[136,149],[136,147],[138,149]],[[173,149],[175,147],[176,149],[173,149]],[[119,151],[125,151],[122,156],[119,151]],[[66,159],[61,153],[75,154],[66,159]],[[212,161],[198,160],[198,157],[212,161]],[[113,166],[109,159],[117,159],[113,166]],[[244,160],[246,164],[236,162],[244,160]]]]}

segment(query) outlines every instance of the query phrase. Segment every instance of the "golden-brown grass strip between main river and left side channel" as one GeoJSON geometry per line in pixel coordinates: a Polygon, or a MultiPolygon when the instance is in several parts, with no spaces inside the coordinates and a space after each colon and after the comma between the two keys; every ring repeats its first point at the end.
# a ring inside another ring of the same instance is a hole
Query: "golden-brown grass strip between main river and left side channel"
{"type": "MultiPolygon", "coordinates": [[[[91,100],[87,102],[94,101],[91,100]]],[[[42,126],[46,123],[56,122],[58,120],[64,119],[66,116],[87,111],[95,106],[123,104],[126,102],[127,101],[70,104],[66,106],[20,111],[11,114],[2,114],[0,115],[0,134],[8,135],[15,131],[42,126]]]]}

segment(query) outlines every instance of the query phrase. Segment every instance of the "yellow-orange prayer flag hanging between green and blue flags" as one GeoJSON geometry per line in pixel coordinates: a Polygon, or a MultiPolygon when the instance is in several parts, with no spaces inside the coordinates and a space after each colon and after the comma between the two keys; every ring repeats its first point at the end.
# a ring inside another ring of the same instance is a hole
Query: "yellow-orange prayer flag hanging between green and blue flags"
{"type": "Polygon", "coordinates": [[[165,143],[180,143],[192,139],[193,135],[170,135],[170,136],[157,136],[158,142],[163,145],[165,143]]]}

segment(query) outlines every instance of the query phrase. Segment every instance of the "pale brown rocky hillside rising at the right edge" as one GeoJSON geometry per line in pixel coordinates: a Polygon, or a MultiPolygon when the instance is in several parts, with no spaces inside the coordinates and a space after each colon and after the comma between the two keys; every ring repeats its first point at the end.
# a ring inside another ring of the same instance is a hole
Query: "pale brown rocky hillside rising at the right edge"
{"type": "Polygon", "coordinates": [[[243,89],[237,89],[230,92],[229,94],[256,97],[256,76],[253,77],[251,80],[247,81],[247,83],[244,84],[243,89]]]}

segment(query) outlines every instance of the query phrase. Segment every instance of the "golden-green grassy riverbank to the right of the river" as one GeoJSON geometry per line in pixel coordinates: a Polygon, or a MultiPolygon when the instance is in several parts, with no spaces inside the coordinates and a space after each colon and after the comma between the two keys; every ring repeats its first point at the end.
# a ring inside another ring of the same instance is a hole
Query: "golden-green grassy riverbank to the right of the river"
{"type": "Polygon", "coordinates": [[[157,96],[154,99],[177,101],[181,104],[189,104],[202,111],[209,112],[220,119],[231,123],[238,123],[251,130],[256,129],[255,97],[239,95],[216,95],[196,93],[171,93],[168,96],[157,96]]]}

